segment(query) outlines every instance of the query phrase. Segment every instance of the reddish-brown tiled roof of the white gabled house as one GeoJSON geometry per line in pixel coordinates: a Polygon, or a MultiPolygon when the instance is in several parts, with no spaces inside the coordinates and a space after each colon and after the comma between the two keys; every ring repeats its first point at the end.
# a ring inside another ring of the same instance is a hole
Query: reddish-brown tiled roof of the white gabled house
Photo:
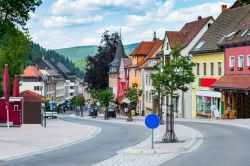
{"type": "Polygon", "coordinates": [[[199,18],[197,21],[186,23],[180,31],[166,31],[165,37],[169,40],[170,48],[186,47],[211,19],[211,16],[199,18]]]}

